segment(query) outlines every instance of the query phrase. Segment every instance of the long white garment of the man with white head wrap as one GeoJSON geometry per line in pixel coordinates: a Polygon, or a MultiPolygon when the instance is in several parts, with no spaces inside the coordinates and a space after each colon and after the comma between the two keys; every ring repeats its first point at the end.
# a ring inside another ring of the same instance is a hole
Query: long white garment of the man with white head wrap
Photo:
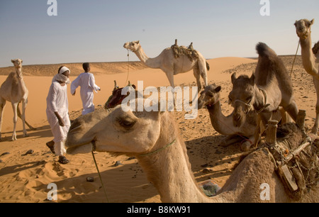
{"type": "Polygon", "coordinates": [[[52,134],[54,136],[56,155],[65,154],[64,142],[69,132],[69,104],[67,101],[67,85],[61,86],[57,81],[52,82],[49,93],[47,94],[47,121],[50,124],[52,134]],[[65,122],[65,126],[59,125],[59,121],[55,116],[55,111],[60,114],[65,122]],[[62,144],[63,143],[63,144],[62,144]]]}

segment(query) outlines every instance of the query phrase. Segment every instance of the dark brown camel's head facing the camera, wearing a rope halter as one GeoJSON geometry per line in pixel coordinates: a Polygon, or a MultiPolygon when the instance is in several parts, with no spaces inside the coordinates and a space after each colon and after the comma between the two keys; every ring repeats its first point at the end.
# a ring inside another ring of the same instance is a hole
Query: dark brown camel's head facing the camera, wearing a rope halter
{"type": "Polygon", "coordinates": [[[229,103],[234,107],[233,124],[236,127],[242,126],[246,121],[247,113],[254,104],[254,74],[252,77],[232,74],[233,90],[228,96],[229,103]]]}

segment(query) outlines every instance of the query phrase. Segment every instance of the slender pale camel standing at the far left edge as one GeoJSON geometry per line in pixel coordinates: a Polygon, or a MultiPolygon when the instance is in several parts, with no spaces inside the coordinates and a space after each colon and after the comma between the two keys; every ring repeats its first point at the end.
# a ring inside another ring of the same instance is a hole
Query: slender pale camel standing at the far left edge
{"type": "Polygon", "coordinates": [[[35,130],[32,126],[30,126],[26,122],[26,106],[28,104],[28,89],[26,88],[26,84],[23,81],[22,76],[22,60],[15,59],[11,60],[13,63],[16,72],[11,72],[9,76],[6,78],[6,81],[0,87],[0,140],[1,140],[1,124],[2,124],[2,116],[4,113],[4,106],[6,105],[6,101],[10,101],[13,109],[13,134],[11,140],[16,140],[16,122],[18,121],[18,117],[22,120],[23,125],[23,137],[28,136],[26,131],[26,125],[31,130],[35,130]],[[22,114],[19,109],[18,104],[22,102],[22,114]]]}

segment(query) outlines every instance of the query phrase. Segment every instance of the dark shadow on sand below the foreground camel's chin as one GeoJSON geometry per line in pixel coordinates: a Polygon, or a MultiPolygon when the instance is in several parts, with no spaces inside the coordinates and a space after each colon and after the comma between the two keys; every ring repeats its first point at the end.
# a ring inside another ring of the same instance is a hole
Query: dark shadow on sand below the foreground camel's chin
{"type": "MultiPolygon", "coordinates": [[[[53,202],[136,203],[158,194],[157,189],[147,181],[145,173],[135,162],[101,172],[101,178],[106,188],[106,195],[99,175],[93,172],[54,182],[57,185],[58,201],[53,202]],[[94,182],[86,181],[87,177],[93,177],[94,182]]],[[[33,188],[36,191],[45,189],[46,193],[50,191],[45,184],[33,188]]],[[[51,202],[47,199],[43,201],[51,202]]]]}

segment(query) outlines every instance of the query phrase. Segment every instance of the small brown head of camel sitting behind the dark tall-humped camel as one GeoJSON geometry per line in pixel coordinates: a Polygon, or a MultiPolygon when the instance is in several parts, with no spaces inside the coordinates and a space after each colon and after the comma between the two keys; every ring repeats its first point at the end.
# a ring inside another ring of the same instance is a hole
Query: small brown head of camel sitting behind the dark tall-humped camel
{"type": "Polygon", "coordinates": [[[198,98],[198,109],[203,109],[205,106],[213,106],[220,100],[220,86],[210,84],[203,91],[198,98]]]}

